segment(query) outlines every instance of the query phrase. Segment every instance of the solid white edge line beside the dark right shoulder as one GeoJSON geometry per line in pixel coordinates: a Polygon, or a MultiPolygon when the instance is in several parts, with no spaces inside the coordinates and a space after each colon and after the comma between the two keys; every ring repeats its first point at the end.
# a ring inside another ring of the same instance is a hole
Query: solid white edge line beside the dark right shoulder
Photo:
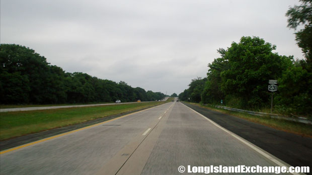
{"type": "MultiPolygon", "coordinates": [[[[184,104],[183,104],[184,105],[184,104]]],[[[184,105],[186,106],[186,105],[184,105]]],[[[188,107],[188,106],[186,106],[188,107]]],[[[288,165],[285,165],[283,163],[281,163],[280,161],[276,160],[275,158],[273,158],[272,156],[270,156],[268,153],[263,152],[261,149],[259,149],[258,147],[256,147],[255,145],[252,145],[249,141],[245,140],[244,138],[232,133],[231,131],[223,128],[222,126],[218,125],[217,123],[215,123],[214,121],[208,119],[207,117],[205,117],[204,115],[198,113],[197,111],[193,110],[192,108],[188,107],[189,109],[191,109],[192,111],[194,111],[195,113],[199,114],[200,116],[202,116],[203,118],[205,118],[206,120],[208,120],[209,122],[211,122],[212,124],[214,124],[216,127],[222,129],[223,131],[225,131],[226,133],[228,133],[229,135],[231,135],[232,137],[238,139],[239,141],[243,142],[245,145],[249,146],[250,148],[252,148],[253,150],[257,151],[258,153],[260,153],[261,155],[263,155],[264,157],[268,158],[269,160],[273,161],[274,163],[276,163],[279,166],[286,166],[289,169],[288,165]]],[[[300,175],[297,172],[289,172],[292,173],[294,175],[300,175]]]]}

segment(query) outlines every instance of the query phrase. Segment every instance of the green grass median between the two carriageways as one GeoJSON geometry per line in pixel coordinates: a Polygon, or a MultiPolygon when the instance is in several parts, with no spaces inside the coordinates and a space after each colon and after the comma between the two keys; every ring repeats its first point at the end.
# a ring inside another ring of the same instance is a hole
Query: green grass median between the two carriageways
{"type": "Polygon", "coordinates": [[[0,141],[115,114],[150,108],[168,102],[171,102],[171,99],[166,102],[0,113],[0,141]]]}

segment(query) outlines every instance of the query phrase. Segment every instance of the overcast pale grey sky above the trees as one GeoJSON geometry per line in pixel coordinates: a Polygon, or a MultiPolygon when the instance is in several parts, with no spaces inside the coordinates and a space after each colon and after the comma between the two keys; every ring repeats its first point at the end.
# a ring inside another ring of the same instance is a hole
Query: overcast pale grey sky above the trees
{"type": "Polygon", "coordinates": [[[302,59],[285,13],[293,0],[1,0],[1,43],[34,49],[66,72],[180,94],[242,36],[302,59]]]}

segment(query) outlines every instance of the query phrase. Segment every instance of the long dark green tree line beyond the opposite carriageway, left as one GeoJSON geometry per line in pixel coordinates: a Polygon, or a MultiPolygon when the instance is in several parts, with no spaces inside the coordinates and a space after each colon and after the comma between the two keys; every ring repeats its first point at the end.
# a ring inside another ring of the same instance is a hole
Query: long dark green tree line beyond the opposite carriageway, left
{"type": "Polygon", "coordinates": [[[132,88],[124,81],[100,79],[87,73],[65,72],[44,56],[16,44],[0,45],[1,104],[62,104],[155,101],[163,93],[132,88]]]}

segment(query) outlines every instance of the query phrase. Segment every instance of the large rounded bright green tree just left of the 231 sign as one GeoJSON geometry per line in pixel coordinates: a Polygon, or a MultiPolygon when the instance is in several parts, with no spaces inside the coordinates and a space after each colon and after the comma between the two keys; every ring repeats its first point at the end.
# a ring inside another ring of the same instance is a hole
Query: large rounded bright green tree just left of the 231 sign
{"type": "Polygon", "coordinates": [[[228,95],[227,102],[232,99],[241,108],[269,104],[268,80],[281,77],[293,60],[273,53],[275,49],[259,37],[242,37],[240,43],[231,44],[224,55],[229,68],[221,72],[221,90],[228,95]]]}

